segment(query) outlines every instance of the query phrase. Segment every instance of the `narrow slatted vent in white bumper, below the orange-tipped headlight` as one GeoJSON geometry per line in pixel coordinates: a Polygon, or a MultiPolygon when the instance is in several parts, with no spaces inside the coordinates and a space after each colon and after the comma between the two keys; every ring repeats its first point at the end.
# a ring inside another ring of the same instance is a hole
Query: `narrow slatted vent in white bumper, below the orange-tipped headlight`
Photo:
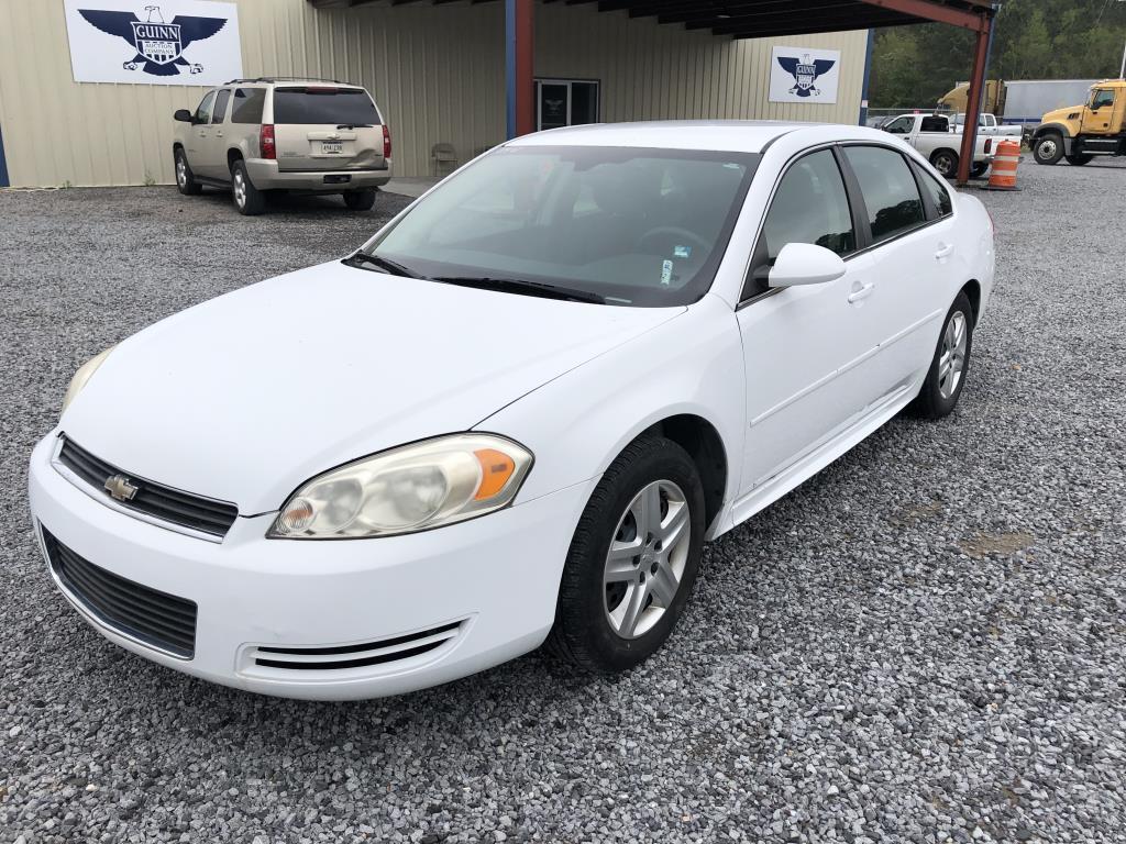
{"type": "Polygon", "coordinates": [[[251,658],[253,665],[262,668],[289,671],[364,668],[429,654],[456,639],[461,629],[462,622],[454,621],[429,630],[360,645],[334,647],[259,646],[253,649],[251,658]]]}

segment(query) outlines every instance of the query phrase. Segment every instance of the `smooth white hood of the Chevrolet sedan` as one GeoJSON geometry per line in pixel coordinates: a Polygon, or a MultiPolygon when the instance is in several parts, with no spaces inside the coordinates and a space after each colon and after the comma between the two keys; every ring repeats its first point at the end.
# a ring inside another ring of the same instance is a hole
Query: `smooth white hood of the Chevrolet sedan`
{"type": "Polygon", "coordinates": [[[124,341],[61,430],[125,473],[233,502],[243,515],[263,513],[342,463],[468,430],[683,311],[327,263],[212,299],[124,341]]]}

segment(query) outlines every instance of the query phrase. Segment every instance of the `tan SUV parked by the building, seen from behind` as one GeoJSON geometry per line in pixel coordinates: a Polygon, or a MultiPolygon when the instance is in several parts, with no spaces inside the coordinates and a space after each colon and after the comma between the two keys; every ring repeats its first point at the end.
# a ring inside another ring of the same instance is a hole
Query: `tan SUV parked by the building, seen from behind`
{"type": "Polygon", "coordinates": [[[235,79],[175,116],[180,192],[230,188],[241,214],[261,214],[272,190],[342,194],[367,210],[391,179],[391,132],[359,86],[235,79]]]}

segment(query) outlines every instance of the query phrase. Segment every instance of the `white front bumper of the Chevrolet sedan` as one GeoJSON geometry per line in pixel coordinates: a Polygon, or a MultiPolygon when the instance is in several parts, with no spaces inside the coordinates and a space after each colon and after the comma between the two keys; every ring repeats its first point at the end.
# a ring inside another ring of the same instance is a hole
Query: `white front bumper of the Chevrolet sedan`
{"type": "Polygon", "coordinates": [[[75,609],[110,641],[169,667],[313,700],[400,694],[538,646],[554,620],[563,562],[595,483],[410,536],[268,540],[268,513],[240,517],[222,542],[209,542],[106,506],[55,469],[55,441],[48,436],[32,456],[37,532],[50,531],[119,577],[194,601],[194,655],[161,653],[107,625],[55,576],[75,609]],[[260,647],[346,648],[440,628],[456,634],[421,655],[374,665],[293,670],[256,659],[260,647]]]}

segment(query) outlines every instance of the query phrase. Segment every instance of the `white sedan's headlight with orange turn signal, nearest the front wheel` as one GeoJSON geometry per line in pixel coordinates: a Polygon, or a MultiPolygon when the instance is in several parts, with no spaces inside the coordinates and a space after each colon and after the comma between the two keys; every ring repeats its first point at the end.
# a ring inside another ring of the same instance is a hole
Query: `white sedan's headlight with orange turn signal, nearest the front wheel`
{"type": "Polygon", "coordinates": [[[272,539],[413,533],[500,510],[516,497],[531,452],[486,433],[439,437],[327,472],[289,496],[272,539]]]}

